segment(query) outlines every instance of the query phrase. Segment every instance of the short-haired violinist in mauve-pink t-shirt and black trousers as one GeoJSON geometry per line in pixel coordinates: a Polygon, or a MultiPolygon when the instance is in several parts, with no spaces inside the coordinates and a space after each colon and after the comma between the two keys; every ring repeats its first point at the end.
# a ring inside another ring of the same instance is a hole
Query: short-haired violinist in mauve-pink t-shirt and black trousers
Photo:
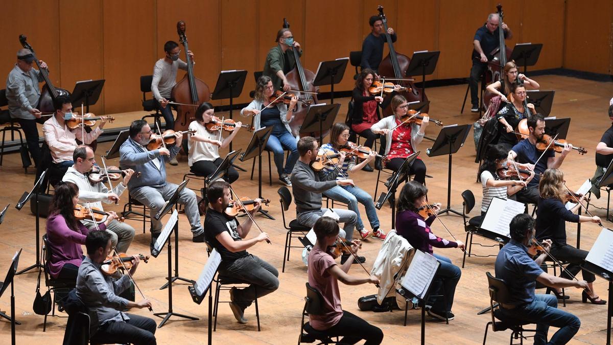
{"type": "MultiPolygon", "coordinates": [[[[321,217],[313,225],[317,242],[308,255],[308,284],[318,290],[323,297],[323,311],[318,315],[309,315],[311,327],[326,333],[328,336],[343,336],[341,343],[355,344],[364,339],[365,344],[381,344],[383,331],[368,324],[360,317],[341,308],[341,295],[338,281],[346,285],[378,284],[376,276],[357,277],[348,273],[353,257],[343,265],[338,266],[335,257],[330,254],[330,247],[338,240],[338,223],[330,217],[321,217]]],[[[359,240],[351,244],[352,252],[356,253],[359,240]]]]}

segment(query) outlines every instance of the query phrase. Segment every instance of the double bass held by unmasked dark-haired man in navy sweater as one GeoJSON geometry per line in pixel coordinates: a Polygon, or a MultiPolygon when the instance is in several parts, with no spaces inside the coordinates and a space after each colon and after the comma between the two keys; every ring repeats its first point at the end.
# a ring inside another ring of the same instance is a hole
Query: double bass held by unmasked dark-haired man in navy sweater
{"type": "MultiPolygon", "coordinates": [[[[385,36],[387,39],[387,46],[389,47],[389,54],[381,61],[379,64],[379,76],[388,76],[394,77],[395,79],[405,79],[408,78],[406,76],[406,70],[409,68],[409,64],[411,63],[411,58],[406,55],[397,53],[394,49],[394,42],[392,42],[392,36],[387,33],[387,18],[383,13],[383,6],[379,5],[377,7],[379,11],[379,17],[381,17],[381,21],[383,21],[383,28],[385,32],[385,36]]],[[[403,95],[406,98],[406,101],[410,102],[420,102],[422,101],[421,91],[415,87],[413,82],[410,80],[398,80],[397,83],[401,87],[405,87],[405,91],[399,91],[399,95],[403,95]]],[[[428,98],[424,94],[424,101],[427,101],[428,98]]],[[[428,112],[430,106],[425,106],[422,109],[423,112],[428,112]]],[[[392,107],[387,106],[386,109],[383,110],[384,115],[393,114],[394,110],[392,107]]]]}

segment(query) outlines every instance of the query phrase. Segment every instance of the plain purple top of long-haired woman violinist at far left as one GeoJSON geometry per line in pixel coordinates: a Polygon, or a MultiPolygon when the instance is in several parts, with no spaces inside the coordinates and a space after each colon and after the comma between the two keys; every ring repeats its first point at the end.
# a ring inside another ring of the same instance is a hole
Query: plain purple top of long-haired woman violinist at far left
{"type": "MultiPolygon", "coordinates": [[[[82,244],[85,244],[85,237],[89,229],[81,222],[77,222],[79,231],[71,230],[66,224],[66,219],[61,214],[53,214],[47,218],[47,241],[51,249],[51,258],[47,262],[49,274],[57,278],[59,271],[67,263],[81,266],[83,262],[82,244]]],[[[100,230],[107,228],[104,223],[99,224],[100,230]]]]}

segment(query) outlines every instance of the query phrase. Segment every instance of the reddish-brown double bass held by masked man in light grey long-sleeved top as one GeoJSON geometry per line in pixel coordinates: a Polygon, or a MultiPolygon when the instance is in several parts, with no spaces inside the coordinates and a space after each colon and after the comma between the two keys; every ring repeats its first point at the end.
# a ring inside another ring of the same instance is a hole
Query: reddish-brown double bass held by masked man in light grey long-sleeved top
{"type": "Polygon", "coordinates": [[[185,48],[185,62],[188,64],[188,72],[172,88],[170,97],[175,99],[175,103],[182,103],[177,107],[175,131],[186,131],[188,130],[189,123],[196,119],[194,114],[200,103],[210,101],[211,90],[208,88],[207,83],[194,76],[192,58],[188,54],[188,38],[185,36],[185,21],[178,21],[177,33],[179,34],[179,42],[185,48]]]}

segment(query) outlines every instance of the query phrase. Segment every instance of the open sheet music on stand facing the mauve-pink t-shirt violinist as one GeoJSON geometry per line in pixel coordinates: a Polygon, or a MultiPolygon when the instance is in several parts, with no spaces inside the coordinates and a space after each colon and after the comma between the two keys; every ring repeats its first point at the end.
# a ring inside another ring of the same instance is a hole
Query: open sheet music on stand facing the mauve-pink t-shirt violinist
{"type": "Polygon", "coordinates": [[[400,285],[417,298],[424,299],[439,265],[438,260],[432,255],[421,250],[415,250],[411,265],[409,265],[400,285]]]}

